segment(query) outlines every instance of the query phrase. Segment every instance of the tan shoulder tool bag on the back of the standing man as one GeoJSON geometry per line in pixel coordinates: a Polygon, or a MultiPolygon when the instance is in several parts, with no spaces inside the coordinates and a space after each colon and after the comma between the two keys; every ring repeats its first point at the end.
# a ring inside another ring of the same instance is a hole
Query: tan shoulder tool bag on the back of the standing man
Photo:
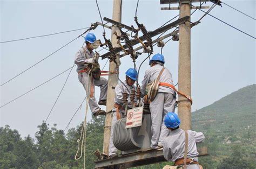
{"type": "Polygon", "coordinates": [[[147,86],[146,86],[146,94],[147,94],[148,100],[150,102],[152,102],[154,100],[154,97],[156,97],[156,95],[157,95],[157,91],[158,91],[158,88],[159,88],[160,76],[164,72],[164,69],[165,69],[165,67],[163,67],[161,69],[161,72],[159,73],[157,79],[148,83],[147,86]]]}

